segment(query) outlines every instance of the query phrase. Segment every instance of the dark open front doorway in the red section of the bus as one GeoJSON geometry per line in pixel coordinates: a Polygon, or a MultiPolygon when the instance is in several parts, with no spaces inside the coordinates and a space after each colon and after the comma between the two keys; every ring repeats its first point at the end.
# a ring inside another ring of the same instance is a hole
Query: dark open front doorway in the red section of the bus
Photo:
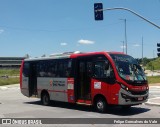
{"type": "Polygon", "coordinates": [[[92,63],[86,59],[77,61],[76,98],[77,102],[87,103],[91,100],[91,68],[92,63]]]}

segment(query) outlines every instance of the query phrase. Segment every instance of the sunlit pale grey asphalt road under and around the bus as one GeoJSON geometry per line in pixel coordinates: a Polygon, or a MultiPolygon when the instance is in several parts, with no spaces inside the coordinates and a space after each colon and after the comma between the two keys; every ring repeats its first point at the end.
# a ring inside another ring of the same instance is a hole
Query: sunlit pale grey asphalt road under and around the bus
{"type": "MultiPolygon", "coordinates": [[[[150,89],[151,90],[151,89],[150,89]]],[[[154,93],[152,93],[152,97],[154,93]]],[[[157,94],[158,95],[158,94],[157,94]]],[[[159,96],[159,95],[158,95],[159,96]]],[[[154,96],[155,97],[155,96],[154,96]]],[[[145,104],[133,106],[130,110],[119,107],[108,109],[101,114],[88,106],[73,105],[68,103],[52,102],[51,106],[43,106],[37,98],[28,98],[20,93],[18,86],[0,88],[0,118],[160,118],[160,107],[145,104]]],[[[151,126],[151,124],[107,124],[105,126],[151,126]]],[[[1,126],[1,125],[0,125],[1,126]]],[[[17,125],[16,125],[17,126],[17,125]]],[[[53,125],[46,125],[53,126],[53,125]]],[[[75,126],[75,125],[56,125],[75,126]]],[[[82,125],[76,125],[82,126],[82,125]]],[[[103,126],[102,124],[88,124],[84,126],[103,126]]],[[[159,126],[158,124],[154,126],[159,126]]]]}

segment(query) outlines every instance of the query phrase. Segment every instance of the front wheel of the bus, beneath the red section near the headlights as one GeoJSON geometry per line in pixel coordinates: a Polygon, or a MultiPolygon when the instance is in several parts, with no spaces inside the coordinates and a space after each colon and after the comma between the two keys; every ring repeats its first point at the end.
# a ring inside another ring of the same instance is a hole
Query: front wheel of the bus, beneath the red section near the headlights
{"type": "Polygon", "coordinates": [[[98,112],[104,113],[106,111],[106,108],[107,108],[106,100],[103,99],[102,97],[97,98],[96,101],[95,101],[95,108],[98,112]]]}

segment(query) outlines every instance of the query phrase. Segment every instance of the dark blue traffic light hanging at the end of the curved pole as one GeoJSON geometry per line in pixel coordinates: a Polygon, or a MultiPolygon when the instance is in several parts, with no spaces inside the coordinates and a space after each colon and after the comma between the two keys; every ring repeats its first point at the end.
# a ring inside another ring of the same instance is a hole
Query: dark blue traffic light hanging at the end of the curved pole
{"type": "Polygon", "coordinates": [[[95,3],[94,4],[94,18],[95,20],[103,20],[103,4],[95,3]]]}

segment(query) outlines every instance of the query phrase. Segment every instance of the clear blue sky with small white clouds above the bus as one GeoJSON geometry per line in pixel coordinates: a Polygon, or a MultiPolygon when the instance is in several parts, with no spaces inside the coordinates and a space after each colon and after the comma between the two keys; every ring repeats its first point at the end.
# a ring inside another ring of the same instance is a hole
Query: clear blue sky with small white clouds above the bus
{"type": "Polygon", "coordinates": [[[141,58],[143,40],[143,56],[157,57],[160,29],[125,10],[95,21],[94,3],[131,9],[160,26],[160,0],[0,0],[0,56],[122,52],[126,19],[127,54],[141,58]]]}

